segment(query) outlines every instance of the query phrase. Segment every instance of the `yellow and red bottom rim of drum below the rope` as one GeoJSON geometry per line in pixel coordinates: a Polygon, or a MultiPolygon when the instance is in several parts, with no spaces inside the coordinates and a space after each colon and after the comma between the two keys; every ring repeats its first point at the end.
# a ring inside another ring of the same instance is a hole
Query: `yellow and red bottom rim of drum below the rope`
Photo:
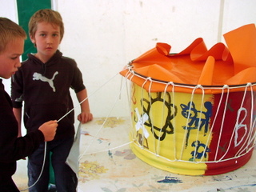
{"type": "Polygon", "coordinates": [[[245,155],[238,158],[232,158],[222,162],[182,162],[182,161],[168,161],[156,154],[143,150],[134,142],[130,143],[130,149],[133,153],[150,166],[154,166],[160,170],[166,170],[174,174],[183,175],[217,175],[225,174],[233,170],[237,170],[244,166],[251,158],[253,150],[251,149],[245,155]],[[191,166],[193,165],[193,166],[191,166]]]}

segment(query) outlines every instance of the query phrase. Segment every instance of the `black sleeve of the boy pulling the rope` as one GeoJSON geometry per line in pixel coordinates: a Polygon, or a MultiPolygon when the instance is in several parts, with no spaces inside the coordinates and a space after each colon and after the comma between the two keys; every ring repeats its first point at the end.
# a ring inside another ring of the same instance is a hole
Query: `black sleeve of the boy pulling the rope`
{"type": "Polygon", "coordinates": [[[11,100],[0,88],[0,162],[14,162],[30,155],[36,150],[44,136],[34,130],[25,137],[18,137],[18,122],[14,117],[11,100]]]}

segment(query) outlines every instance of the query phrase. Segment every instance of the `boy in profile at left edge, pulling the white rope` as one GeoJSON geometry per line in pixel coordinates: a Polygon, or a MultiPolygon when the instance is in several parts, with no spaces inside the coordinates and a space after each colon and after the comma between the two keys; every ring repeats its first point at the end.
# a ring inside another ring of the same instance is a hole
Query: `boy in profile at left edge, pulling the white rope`
{"type": "Polygon", "coordinates": [[[2,78],[10,78],[21,66],[26,33],[8,18],[0,18],[0,191],[19,191],[12,180],[16,161],[32,154],[40,143],[54,139],[57,121],[44,123],[38,130],[18,138],[10,96],[4,90],[2,78]]]}

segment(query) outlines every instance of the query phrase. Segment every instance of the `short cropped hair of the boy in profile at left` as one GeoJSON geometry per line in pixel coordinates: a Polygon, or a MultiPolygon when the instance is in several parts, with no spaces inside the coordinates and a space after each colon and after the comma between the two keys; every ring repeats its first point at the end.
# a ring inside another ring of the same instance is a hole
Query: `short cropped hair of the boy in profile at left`
{"type": "Polygon", "coordinates": [[[16,38],[26,39],[26,32],[9,18],[0,17],[0,53],[6,50],[6,45],[16,38]]]}

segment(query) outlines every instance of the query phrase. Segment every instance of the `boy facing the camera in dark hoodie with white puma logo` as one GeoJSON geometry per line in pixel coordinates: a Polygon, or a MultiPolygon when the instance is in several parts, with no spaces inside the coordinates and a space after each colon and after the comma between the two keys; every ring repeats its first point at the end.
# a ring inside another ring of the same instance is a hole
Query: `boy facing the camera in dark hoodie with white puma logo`
{"type": "MultiPolygon", "coordinates": [[[[24,102],[24,124],[28,132],[37,130],[38,124],[50,118],[60,119],[73,109],[70,97],[72,88],[81,102],[81,114],[78,120],[82,123],[92,120],[82,73],[74,59],[62,56],[58,46],[64,34],[61,15],[54,10],[38,10],[29,22],[30,39],[37,48],[36,54],[22,63],[12,81],[11,98],[18,122],[21,122],[22,102],[24,102]]],[[[54,168],[57,191],[76,191],[78,178],[66,158],[74,142],[74,111],[58,122],[54,141],[47,143],[46,164],[40,180],[30,191],[45,192],[49,183],[49,162],[54,168]]],[[[36,182],[42,170],[44,158],[42,144],[34,154],[29,156],[29,185],[36,182]]]]}

